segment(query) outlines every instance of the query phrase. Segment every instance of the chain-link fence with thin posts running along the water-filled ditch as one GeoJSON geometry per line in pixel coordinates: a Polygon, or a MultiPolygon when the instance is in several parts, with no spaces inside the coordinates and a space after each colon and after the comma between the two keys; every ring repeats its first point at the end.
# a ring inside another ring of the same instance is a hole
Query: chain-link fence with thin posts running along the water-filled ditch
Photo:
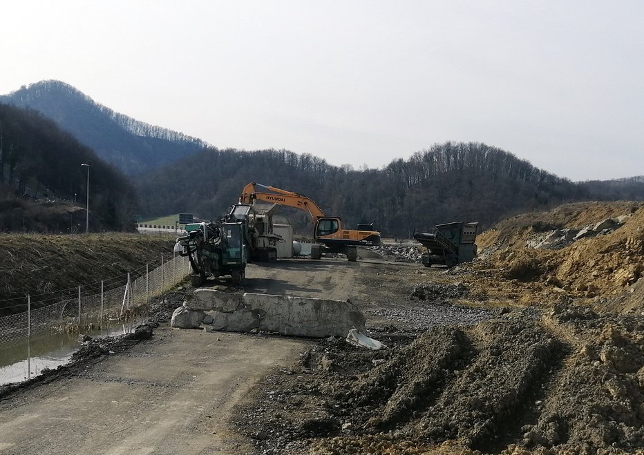
{"type": "MultiPolygon", "coordinates": [[[[14,382],[10,379],[16,376],[16,371],[3,373],[3,367],[21,365],[26,360],[22,369],[26,369],[24,377],[28,378],[33,369],[40,371],[48,366],[42,354],[56,351],[70,340],[73,344],[79,333],[129,331],[137,307],[162,295],[189,273],[187,258],[161,257],[160,265],[154,269],[146,265],[120,278],[79,286],[73,297],[68,289],[64,298],[32,302],[32,297],[26,296],[25,302],[1,302],[5,305],[0,307],[26,306],[27,311],[0,318],[0,384],[14,382]],[[32,361],[40,363],[30,365],[32,361]]],[[[54,352],[48,358],[55,356],[54,352]]]]}

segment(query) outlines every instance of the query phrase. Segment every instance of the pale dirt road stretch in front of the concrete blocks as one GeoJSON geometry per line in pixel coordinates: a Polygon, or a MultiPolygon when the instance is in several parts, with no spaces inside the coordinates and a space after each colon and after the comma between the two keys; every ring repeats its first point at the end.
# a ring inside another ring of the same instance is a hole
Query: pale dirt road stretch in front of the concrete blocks
{"type": "Polygon", "coordinates": [[[243,453],[234,405],[299,340],[158,329],[86,373],[0,405],[0,453],[243,453]]]}

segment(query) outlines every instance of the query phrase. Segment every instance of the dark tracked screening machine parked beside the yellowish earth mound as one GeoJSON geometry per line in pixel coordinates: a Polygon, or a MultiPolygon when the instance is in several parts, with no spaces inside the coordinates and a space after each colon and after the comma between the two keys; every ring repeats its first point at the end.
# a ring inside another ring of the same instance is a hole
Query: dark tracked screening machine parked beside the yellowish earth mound
{"type": "Polygon", "coordinates": [[[470,262],[476,257],[476,231],[478,223],[453,222],[437,224],[433,233],[417,232],[414,238],[426,247],[422,255],[425,267],[444,264],[453,267],[470,262]]]}

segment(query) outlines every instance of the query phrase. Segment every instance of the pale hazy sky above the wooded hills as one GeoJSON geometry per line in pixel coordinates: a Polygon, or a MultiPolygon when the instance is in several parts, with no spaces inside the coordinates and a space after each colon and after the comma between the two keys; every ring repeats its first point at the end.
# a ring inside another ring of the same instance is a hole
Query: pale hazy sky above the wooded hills
{"type": "Polygon", "coordinates": [[[218,148],[381,168],[484,142],[644,175],[644,1],[21,0],[0,94],[58,79],[218,148]]]}

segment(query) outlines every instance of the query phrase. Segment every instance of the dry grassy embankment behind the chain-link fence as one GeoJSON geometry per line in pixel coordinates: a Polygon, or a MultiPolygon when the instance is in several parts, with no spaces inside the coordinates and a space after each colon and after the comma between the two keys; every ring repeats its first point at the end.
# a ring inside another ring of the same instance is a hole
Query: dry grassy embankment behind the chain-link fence
{"type": "Polygon", "coordinates": [[[173,244],[170,236],[126,233],[2,234],[0,315],[3,309],[26,311],[26,294],[37,304],[61,291],[74,293],[79,285],[115,279],[124,284],[128,272],[142,274],[146,264],[158,267],[162,255],[171,258],[173,244]]]}

